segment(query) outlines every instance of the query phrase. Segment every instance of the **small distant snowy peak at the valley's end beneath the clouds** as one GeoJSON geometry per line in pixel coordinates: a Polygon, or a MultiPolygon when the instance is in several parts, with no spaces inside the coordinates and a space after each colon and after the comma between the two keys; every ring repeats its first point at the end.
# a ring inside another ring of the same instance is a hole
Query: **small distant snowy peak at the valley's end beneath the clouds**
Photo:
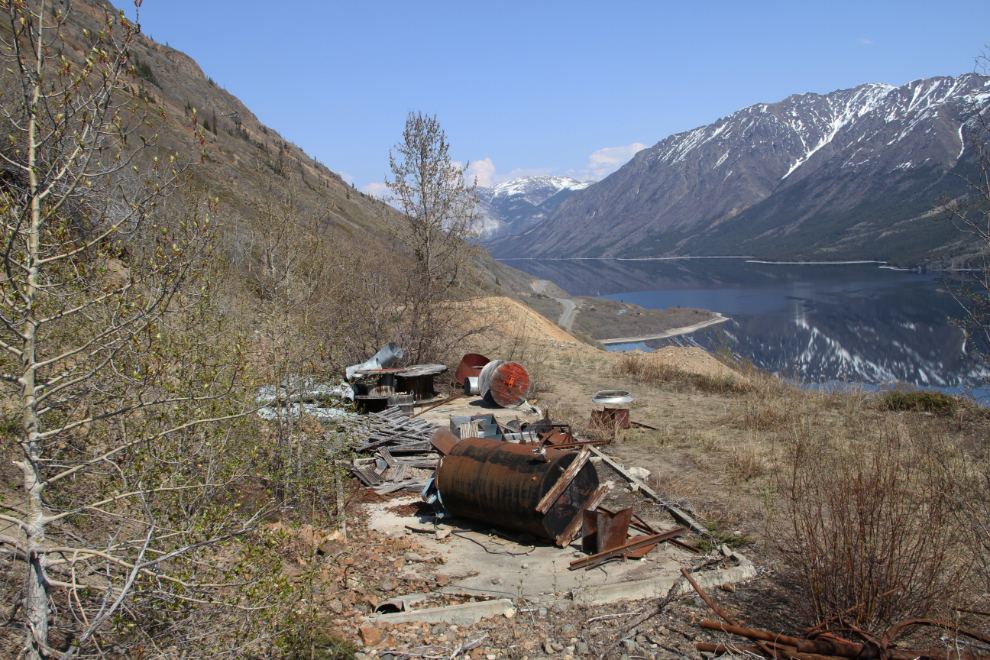
{"type": "Polygon", "coordinates": [[[478,222],[483,238],[520,234],[557,210],[571,193],[591,182],[566,176],[527,176],[491,188],[478,186],[478,222]]]}

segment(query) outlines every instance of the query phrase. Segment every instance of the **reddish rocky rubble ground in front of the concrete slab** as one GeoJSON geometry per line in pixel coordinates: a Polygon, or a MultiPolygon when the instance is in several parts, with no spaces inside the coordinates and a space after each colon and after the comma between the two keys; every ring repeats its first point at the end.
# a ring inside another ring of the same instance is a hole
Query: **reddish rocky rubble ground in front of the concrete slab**
{"type": "MultiPolygon", "coordinates": [[[[607,649],[612,650],[609,655],[630,660],[699,658],[694,644],[715,640],[716,635],[697,626],[702,619],[716,617],[693,592],[645,621],[641,621],[644,615],[657,611],[659,599],[588,606],[575,600],[572,592],[559,591],[516,599],[512,609],[479,622],[391,624],[375,610],[397,596],[432,595],[432,605],[476,599],[440,593],[452,577],[445,570],[447,559],[430,553],[418,534],[386,535],[368,528],[362,512],[367,504],[381,499],[373,493],[358,494],[351,507],[346,542],[339,535],[325,534],[331,538],[321,540],[318,532],[306,528],[291,532],[297,547],[318,544],[311,561],[319,566],[315,570],[321,576],[317,587],[321,593],[314,600],[333,613],[334,632],[356,645],[358,660],[450,658],[458,649],[486,660],[576,658],[597,656],[607,649]]],[[[304,570],[300,567],[300,576],[304,570]]],[[[772,571],[764,569],[749,584],[711,590],[709,595],[746,621],[748,603],[773,598],[771,578],[772,571]]],[[[766,624],[762,616],[761,624],[766,624]]],[[[782,621],[782,625],[786,624],[782,621]]]]}

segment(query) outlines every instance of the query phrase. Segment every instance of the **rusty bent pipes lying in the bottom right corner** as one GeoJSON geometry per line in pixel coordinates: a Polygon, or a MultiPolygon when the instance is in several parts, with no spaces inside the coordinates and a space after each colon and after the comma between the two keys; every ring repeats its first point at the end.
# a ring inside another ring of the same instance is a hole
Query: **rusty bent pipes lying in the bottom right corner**
{"type": "Polygon", "coordinates": [[[725,654],[738,654],[748,657],[761,656],[773,658],[774,660],[791,660],[792,658],[795,660],[839,660],[845,658],[862,660],[916,660],[922,658],[929,658],[931,660],[990,660],[990,655],[973,653],[961,648],[969,647],[988,650],[990,637],[946,621],[907,619],[895,623],[884,631],[882,635],[871,635],[860,630],[855,624],[847,621],[845,618],[860,609],[862,605],[846,610],[823,624],[805,630],[801,634],[801,637],[789,637],[763,630],[742,628],[732,617],[712,601],[686,569],[681,569],[681,573],[691,583],[691,586],[694,587],[694,590],[698,592],[698,595],[701,596],[708,607],[725,621],[725,623],[701,621],[699,625],[702,628],[744,637],[752,642],[751,645],[737,645],[733,643],[710,644],[704,642],[696,645],[698,651],[711,654],[715,657],[725,654]],[[838,627],[836,629],[830,629],[829,626],[832,625],[837,625],[838,627]],[[921,626],[945,630],[951,635],[948,641],[955,648],[928,648],[921,650],[895,646],[894,642],[908,630],[921,626]],[[838,636],[836,633],[856,635],[861,638],[861,641],[849,641],[838,636]],[[960,639],[961,637],[967,637],[982,644],[966,642],[960,639]]]}

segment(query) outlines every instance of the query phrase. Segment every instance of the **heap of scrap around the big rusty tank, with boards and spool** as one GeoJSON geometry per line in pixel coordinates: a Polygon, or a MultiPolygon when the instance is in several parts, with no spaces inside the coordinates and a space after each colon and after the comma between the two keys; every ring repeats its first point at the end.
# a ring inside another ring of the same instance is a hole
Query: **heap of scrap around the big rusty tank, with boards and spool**
{"type": "MultiPolygon", "coordinates": [[[[386,346],[368,362],[349,367],[348,379],[378,378],[368,391],[377,388],[374,396],[389,394],[382,384],[391,386],[396,370],[389,367],[401,355],[398,346],[386,346]]],[[[478,354],[464,356],[454,379],[465,394],[483,396],[503,408],[525,403],[531,385],[521,365],[478,354]]],[[[632,400],[628,392],[599,394],[624,396],[607,403],[632,400]]],[[[459,396],[463,395],[420,414],[459,396]]],[[[548,416],[505,424],[493,414],[451,416],[450,430],[409,417],[398,407],[366,419],[367,440],[357,451],[375,454],[356,459],[352,468],[365,486],[379,493],[422,490],[439,517],[452,514],[546,539],[561,548],[581,536],[590,556],[572,562],[571,570],[642,558],[664,542],[698,552],[677,540],[688,532],[685,527],[657,530],[633,515],[632,508],[613,512],[601,506],[608,486],[600,483],[589,459],[591,446],[608,440],[579,440],[568,425],[548,416]]]]}

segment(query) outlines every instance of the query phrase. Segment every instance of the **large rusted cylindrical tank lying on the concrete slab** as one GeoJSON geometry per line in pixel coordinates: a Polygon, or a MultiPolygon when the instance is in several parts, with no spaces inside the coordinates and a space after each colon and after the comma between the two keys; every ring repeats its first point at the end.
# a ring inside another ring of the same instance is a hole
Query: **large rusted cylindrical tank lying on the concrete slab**
{"type": "Polygon", "coordinates": [[[467,438],[458,442],[437,470],[437,490],[455,515],[495,527],[556,540],[583,515],[598,488],[598,473],[586,463],[545,513],[536,510],[578,454],[547,450],[546,462],[533,446],[467,438]]]}

